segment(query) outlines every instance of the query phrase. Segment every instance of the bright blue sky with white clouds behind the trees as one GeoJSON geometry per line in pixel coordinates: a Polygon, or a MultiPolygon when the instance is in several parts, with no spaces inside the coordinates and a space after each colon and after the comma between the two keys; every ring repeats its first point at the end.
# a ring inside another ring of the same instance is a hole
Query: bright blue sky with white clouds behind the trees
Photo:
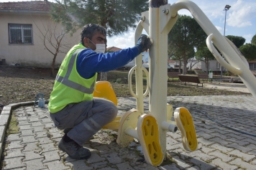
{"type": "MultiPolygon", "coordinates": [[[[6,1],[25,1],[25,0],[0,0],[6,1]]],[[[48,0],[53,1],[53,0],[48,0]]],[[[177,0],[176,0],[177,1],[177,0]]],[[[168,0],[168,4],[174,4],[175,0],[168,0]]],[[[252,37],[256,34],[256,0],[191,0],[193,1],[216,29],[224,34],[225,11],[224,7],[231,6],[227,11],[225,35],[241,36],[246,39],[245,43],[250,43],[252,37]]],[[[181,9],[178,14],[192,16],[187,9],[181,9]]],[[[107,47],[127,48],[134,46],[134,29],[124,34],[108,37],[107,47]]],[[[147,34],[145,31],[142,34],[147,34]]]]}

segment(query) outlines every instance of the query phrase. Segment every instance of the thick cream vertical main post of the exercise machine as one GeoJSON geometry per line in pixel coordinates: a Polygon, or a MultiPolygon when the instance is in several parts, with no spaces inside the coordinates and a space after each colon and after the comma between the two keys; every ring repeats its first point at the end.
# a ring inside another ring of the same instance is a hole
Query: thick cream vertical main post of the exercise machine
{"type": "MultiPolygon", "coordinates": [[[[168,4],[167,0],[150,0],[149,9],[149,35],[152,38],[150,47],[150,95],[149,110],[156,118],[157,124],[161,127],[163,121],[166,121],[167,105],[167,83],[166,75],[168,56],[168,32],[160,32],[160,6],[168,4]],[[165,57],[166,56],[166,57],[165,57]]],[[[166,154],[166,131],[163,128],[158,130],[160,136],[160,145],[163,156],[166,154]]]]}

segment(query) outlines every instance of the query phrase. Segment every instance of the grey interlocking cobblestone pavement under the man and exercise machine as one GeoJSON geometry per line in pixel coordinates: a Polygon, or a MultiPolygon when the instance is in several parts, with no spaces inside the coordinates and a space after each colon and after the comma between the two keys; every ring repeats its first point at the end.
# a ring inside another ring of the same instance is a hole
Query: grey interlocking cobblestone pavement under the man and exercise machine
{"type": "MultiPolygon", "coordinates": [[[[134,98],[119,98],[118,101],[119,114],[136,108],[134,98]]],[[[134,141],[129,147],[120,148],[116,144],[116,132],[110,130],[99,131],[94,139],[84,144],[91,150],[90,159],[70,159],[58,149],[63,132],[52,126],[47,107],[34,108],[32,105],[19,105],[13,110],[19,123],[19,133],[6,136],[4,147],[6,122],[13,105],[5,106],[0,115],[1,150],[5,155],[2,156],[3,169],[256,169],[256,138],[250,136],[256,135],[256,105],[252,95],[176,96],[168,97],[168,103],[190,110],[196,126],[198,150],[187,152],[183,148],[180,131],[168,132],[168,156],[157,167],[145,163],[140,143],[134,141]]],[[[147,109],[148,98],[145,98],[147,109]]]]}

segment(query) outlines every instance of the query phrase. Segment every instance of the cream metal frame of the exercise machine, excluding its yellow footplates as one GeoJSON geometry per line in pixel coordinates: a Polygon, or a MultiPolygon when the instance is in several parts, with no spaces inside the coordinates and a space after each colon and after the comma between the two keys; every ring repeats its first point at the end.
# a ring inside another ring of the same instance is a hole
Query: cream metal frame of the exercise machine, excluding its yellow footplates
{"type": "MultiPolygon", "coordinates": [[[[210,22],[207,16],[199,7],[192,1],[180,0],[175,4],[166,4],[159,8],[151,8],[149,11],[142,13],[142,19],[137,25],[135,31],[134,42],[142,34],[142,29],[145,29],[152,39],[152,46],[150,47],[150,65],[149,65],[149,84],[147,89],[149,91],[149,110],[153,115],[157,124],[161,125],[159,128],[160,145],[163,150],[163,155],[166,153],[166,131],[170,131],[169,126],[172,123],[167,120],[167,80],[164,75],[167,75],[168,67],[166,65],[168,56],[168,33],[178,19],[178,10],[188,9],[191,11],[193,18],[204,29],[204,32],[209,36],[206,39],[206,44],[210,51],[216,57],[216,60],[227,68],[227,70],[239,75],[241,80],[250,90],[252,95],[256,98],[256,78],[249,70],[249,65],[239,51],[234,47],[232,42],[222,36],[214,24],[210,22]],[[211,42],[214,42],[221,54],[224,55],[227,62],[219,55],[211,42]]],[[[142,55],[136,57],[135,66],[129,72],[131,77],[135,70],[136,74],[136,94],[131,92],[137,98],[137,110],[144,113],[143,98],[147,95],[147,91],[143,94],[142,82],[142,55]]],[[[145,70],[144,70],[145,71],[145,70]]],[[[145,71],[146,72],[146,71],[145,71]]],[[[129,78],[129,89],[132,91],[132,79],[129,78]]]]}

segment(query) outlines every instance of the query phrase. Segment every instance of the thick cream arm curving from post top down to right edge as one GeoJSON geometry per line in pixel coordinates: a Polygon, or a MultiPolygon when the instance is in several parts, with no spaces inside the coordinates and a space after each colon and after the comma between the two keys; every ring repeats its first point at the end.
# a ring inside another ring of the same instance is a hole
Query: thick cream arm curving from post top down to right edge
{"type": "Polygon", "coordinates": [[[248,69],[248,65],[244,62],[244,59],[240,57],[237,52],[232,48],[232,46],[227,42],[223,35],[219,32],[218,29],[210,22],[204,12],[192,1],[180,0],[175,2],[171,6],[171,17],[177,15],[178,10],[188,9],[193,15],[193,18],[196,19],[196,22],[204,29],[204,32],[209,36],[214,34],[214,45],[219,49],[222,55],[224,55],[229,65],[232,67],[241,70],[239,77],[241,78],[244,85],[250,90],[250,93],[256,98],[256,78],[252,72],[248,69]]]}

